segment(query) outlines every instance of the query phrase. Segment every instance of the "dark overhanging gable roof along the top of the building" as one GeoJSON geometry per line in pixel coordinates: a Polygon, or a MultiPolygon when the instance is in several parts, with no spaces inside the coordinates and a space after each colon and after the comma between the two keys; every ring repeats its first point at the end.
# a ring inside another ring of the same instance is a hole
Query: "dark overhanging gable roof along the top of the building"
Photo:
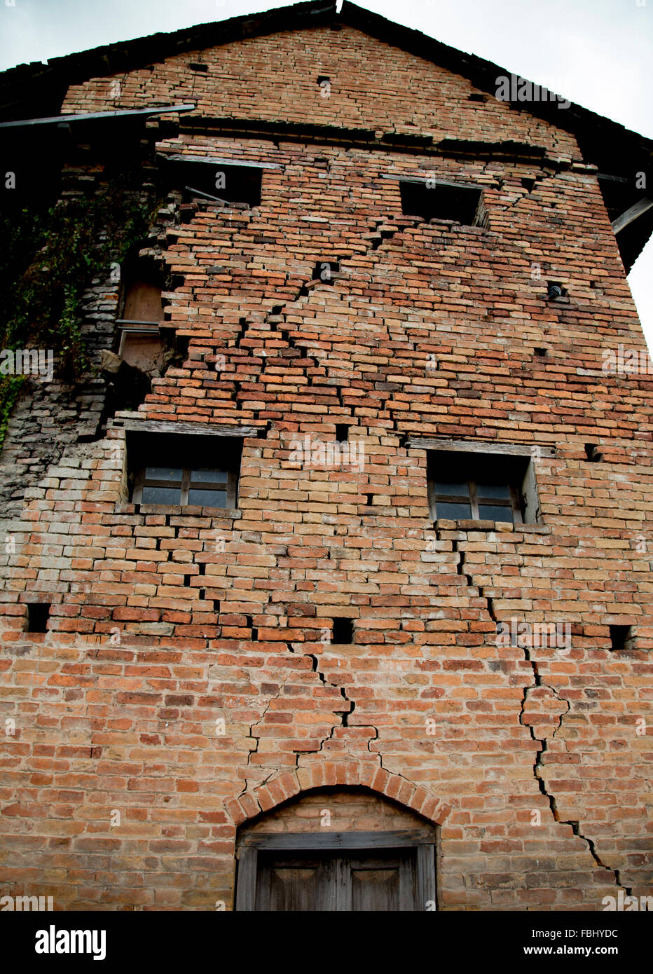
{"type": "MultiPolygon", "coordinates": [[[[306,30],[316,26],[349,26],[409,54],[431,61],[461,75],[476,88],[496,92],[496,79],[510,72],[476,55],[465,54],[418,30],[393,23],[378,14],[345,0],[337,13],[333,0],[308,0],[228,20],[184,27],[170,33],[109,44],[79,54],[54,57],[43,64],[21,64],[0,73],[0,121],[56,115],[67,89],[90,78],[126,73],[166,57],[231,44],[281,31],[306,30]]],[[[611,220],[642,196],[635,186],[635,173],[653,179],[653,141],[617,122],[573,102],[564,111],[555,101],[512,102],[516,111],[526,111],[551,125],[571,132],[584,160],[599,169],[599,184],[611,220]]],[[[653,232],[653,207],[619,235],[627,269],[653,232]]]]}

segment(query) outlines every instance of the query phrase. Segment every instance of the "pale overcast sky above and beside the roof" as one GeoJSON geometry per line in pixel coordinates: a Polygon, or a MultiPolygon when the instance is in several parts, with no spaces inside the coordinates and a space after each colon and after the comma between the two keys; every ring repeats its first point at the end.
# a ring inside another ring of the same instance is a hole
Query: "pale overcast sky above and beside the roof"
{"type": "MultiPolygon", "coordinates": [[[[0,0],[0,70],[283,6],[265,0],[0,0]]],[[[359,6],[487,57],[653,138],[653,0],[364,0],[359,6]]],[[[653,349],[653,240],[629,281],[653,349]]]]}

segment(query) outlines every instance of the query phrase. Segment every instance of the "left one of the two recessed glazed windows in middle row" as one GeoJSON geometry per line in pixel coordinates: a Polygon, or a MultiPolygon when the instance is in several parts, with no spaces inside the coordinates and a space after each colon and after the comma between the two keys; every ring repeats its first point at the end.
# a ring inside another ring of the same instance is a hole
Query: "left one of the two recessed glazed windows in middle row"
{"type": "Polygon", "coordinates": [[[131,501],[236,507],[241,449],[237,436],[127,431],[131,501]]]}

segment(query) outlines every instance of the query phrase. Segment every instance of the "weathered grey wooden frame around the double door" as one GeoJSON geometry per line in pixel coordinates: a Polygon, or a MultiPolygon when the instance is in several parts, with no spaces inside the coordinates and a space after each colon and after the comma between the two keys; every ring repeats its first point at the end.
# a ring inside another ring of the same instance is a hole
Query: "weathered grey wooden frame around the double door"
{"type": "MultiPolygon", "coordinates": [[[[237,912],[255,912],[258,879],[258,853],[265,851],[298,852],[369,852],[374,849],[407,850],[415,848],[417,870],[417,903],[433,903],[437,908],[436,834],[434,830],[406,832],[277,832],[251,833],[243,836],[236,847],[237,912]]],[[[341,903],[337,907],[345,911],[341,903]]]]}

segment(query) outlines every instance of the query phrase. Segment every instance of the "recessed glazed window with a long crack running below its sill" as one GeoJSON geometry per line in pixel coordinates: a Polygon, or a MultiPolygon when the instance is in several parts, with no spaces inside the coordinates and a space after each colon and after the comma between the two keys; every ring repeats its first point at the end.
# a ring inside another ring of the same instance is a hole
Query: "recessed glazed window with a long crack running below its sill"
{"type": "Polygon", "coordinates": [[[433,520],[534,524],[539,519],[528,457],[433,450],[427,475],[433,520]]]}

